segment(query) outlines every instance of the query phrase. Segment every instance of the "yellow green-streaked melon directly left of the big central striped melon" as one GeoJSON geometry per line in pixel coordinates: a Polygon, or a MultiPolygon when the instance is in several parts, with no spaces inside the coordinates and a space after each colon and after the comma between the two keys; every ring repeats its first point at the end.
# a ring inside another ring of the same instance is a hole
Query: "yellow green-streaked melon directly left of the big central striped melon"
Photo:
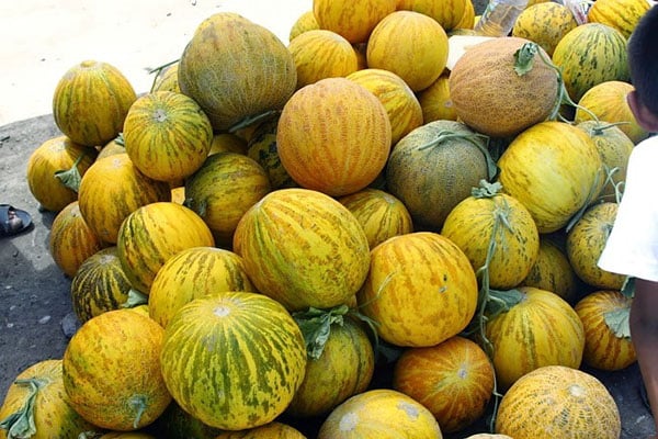
{"type": "Polygon", "coordinates": [[[160,268],[191,247],[213,247],[209,228],[194,211],[173,202],[151,203],[131,213],[118,230],[121,267],[133,289],[148,294],[160,268]]]}

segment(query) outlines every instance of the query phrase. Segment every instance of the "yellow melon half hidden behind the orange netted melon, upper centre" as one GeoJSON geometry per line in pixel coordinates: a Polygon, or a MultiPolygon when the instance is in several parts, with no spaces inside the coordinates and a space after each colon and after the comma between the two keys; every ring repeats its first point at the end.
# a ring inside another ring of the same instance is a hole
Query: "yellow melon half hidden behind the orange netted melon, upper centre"
{"type": "Polygon", "coordinates": [[[347,78],[368,89],[382,102],[390,121],[390,142],[394,145],[423,124],[420,102],[399,76],[388,70],[366,68],[347,78]]]}

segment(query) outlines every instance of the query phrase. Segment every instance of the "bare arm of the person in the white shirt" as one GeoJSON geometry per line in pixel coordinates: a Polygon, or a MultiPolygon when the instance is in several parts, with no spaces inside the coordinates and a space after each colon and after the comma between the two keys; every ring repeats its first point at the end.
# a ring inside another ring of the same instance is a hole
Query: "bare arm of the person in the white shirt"
{"type": "Polygon", "coordinates": [[[631,338],[658,432],[658,282],[635,279],[631,338]]]}

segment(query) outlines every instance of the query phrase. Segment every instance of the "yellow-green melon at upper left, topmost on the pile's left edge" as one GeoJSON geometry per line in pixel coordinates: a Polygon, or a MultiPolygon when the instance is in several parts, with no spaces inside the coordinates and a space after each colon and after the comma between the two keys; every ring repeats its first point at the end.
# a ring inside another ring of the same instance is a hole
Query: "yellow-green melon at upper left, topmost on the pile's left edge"
{"type": "Polygon", "coordinates": [[[133,86],[116,67],[84,60],[57,82],[53,116],[57,127],[75,143],[101,146],[122,131],[136,99],[133,86]]]}

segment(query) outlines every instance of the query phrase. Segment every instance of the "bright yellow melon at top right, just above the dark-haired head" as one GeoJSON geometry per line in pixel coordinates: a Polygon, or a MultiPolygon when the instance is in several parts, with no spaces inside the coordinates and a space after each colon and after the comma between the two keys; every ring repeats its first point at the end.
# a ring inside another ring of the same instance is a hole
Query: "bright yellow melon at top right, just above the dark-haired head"
{"type": "Polygon", "coordinates": [[[597,0],[587,11],[587,20],[608,24],[628,38],[650,7],[647,0],[597,0]]]}

